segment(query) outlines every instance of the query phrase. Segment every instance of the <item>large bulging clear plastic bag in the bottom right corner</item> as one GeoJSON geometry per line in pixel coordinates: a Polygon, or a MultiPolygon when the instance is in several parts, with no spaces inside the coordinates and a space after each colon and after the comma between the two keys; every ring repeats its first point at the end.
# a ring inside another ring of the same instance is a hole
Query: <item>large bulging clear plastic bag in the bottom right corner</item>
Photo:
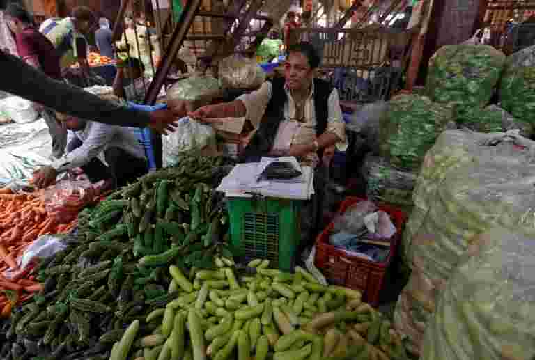
{"type": "Polygon", "coordinates": [[[493,228],[447,282],[421,359],[533,359],[534,329],[535,238],[493,228]]]}

